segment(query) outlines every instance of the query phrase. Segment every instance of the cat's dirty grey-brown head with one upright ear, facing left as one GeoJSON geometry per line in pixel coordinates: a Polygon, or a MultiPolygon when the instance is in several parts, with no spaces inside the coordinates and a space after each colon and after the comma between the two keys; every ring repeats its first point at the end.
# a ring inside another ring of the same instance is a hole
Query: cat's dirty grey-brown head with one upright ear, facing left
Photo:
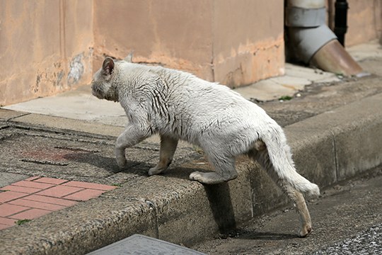
{"type": "Polygon", "coordinates": [[[109,101],[118,101],[117,86],[115,84],[115,62],[106,57],[102,67],[94,74],[91,82],[93,96],[109,101]]]}

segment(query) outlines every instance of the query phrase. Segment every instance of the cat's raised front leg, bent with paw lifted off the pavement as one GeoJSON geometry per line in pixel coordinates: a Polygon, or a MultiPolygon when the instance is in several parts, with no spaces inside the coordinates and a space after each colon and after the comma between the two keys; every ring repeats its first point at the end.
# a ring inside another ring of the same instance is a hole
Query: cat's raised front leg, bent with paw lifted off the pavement
{"type": "Polygon", "coordinates": [[[151,134],[136,125],[128,125],[115,142],[115,159],[121,168],[126,166],[125,149],[137,145],[151,134]]]}

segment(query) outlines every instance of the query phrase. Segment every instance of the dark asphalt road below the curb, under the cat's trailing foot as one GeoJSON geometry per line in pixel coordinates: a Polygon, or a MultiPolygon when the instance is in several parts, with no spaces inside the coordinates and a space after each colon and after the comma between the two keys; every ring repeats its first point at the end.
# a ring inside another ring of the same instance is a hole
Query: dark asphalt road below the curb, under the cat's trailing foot
{"type": "Polygon", "coordinates": [[[313,233],[296,236],[293,208],[246,222],[192,247],[206,254],[382,254],[382,167],[321,191],[308,201],[313,233]]]}

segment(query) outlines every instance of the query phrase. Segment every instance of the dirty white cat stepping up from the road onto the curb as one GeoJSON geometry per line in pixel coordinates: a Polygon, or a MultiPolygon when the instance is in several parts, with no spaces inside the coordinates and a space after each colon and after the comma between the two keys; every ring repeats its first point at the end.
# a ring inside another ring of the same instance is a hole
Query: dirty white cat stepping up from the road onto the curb
{"type": "Polygon", "coordinates": [[[255,103],[226,86],[187,72],[134,64],[106,57],[92,82],[93,95],[118,101],[129,123],[117,138],[115,157],[125,166],[125,149],[154,134],[161,136],[158,164],[149,175],[165,171],[178,140],[202,147],[214,172],[195,171],[190,179],[204,184],[235,179],[235,158],[257,160],[294,201],[301,219],[301,237],[311,232],[311,217],[301,193],[318,196],[316,184],[296,172],[282,128],[255,103]]]}

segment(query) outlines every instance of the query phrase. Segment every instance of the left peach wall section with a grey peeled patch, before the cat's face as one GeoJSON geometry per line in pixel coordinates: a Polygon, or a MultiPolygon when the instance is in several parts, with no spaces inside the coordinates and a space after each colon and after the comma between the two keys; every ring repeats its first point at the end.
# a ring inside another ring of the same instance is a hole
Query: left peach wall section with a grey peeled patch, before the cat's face
{"type": "Polygon", "coordinates": [[[0,105],[89,81],[92,15],[91,0],[0,0],[0,105]]]}

